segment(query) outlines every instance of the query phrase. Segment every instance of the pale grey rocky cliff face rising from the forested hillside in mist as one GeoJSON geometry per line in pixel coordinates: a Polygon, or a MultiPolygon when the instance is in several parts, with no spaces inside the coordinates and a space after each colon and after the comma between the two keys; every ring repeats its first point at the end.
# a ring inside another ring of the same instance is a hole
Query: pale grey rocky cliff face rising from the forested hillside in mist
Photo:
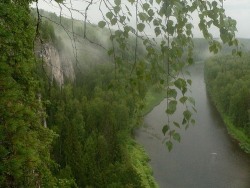
{"type": "Polygon", "coordinates": [[[58,50],[49,43],[43,44],[38,50],[37,55],[43,60],[44,68],[48,74],[51,83],[55,81],[59,86],[63,86],[65,79],[74,80],[75,72],[70,55],[58,50]]]}

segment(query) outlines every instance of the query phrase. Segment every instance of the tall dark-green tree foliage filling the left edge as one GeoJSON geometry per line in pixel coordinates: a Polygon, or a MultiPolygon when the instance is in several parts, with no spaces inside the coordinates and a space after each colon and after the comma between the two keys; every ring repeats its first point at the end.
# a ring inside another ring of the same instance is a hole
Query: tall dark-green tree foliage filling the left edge
{"type": "Polygon", "coordinates": [[[53,187],[50,144],[37,98],[28,4],[0,3],[0,187],[53,187]]]}

